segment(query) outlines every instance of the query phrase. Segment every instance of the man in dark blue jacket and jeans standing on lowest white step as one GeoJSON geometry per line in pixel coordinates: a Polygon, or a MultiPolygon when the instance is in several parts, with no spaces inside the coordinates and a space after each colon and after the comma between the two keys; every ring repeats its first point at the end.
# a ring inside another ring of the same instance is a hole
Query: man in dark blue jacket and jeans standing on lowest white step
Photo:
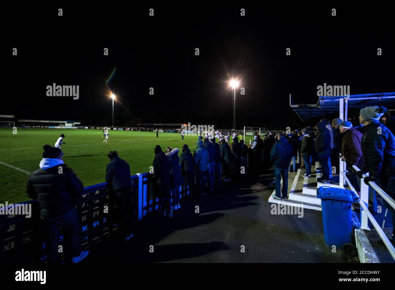
{"type": "Polygon", "coordinates": [[[270,159],[273,164],[276,193],[275,199],[288,198],[288,166],[294,154],[292,145],[285,139],[285,135],[280,133],[277,142],[273,145],[270,152],[270,159]],[[281,187],[282,178],[282,189],[281,187]],[[281,197],[281,193],[282,197],[281,197]]]}

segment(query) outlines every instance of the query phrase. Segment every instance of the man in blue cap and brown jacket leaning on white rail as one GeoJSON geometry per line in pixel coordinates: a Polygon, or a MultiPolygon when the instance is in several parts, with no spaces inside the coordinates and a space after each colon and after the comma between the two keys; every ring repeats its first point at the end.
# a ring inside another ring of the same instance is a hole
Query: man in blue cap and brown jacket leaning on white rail
{"type": "Polygon", "coordinates": [[[359,181],[357,180],[357,176],[352,170],[352,166],[356,165],[358,168],[362,168],[363,158],[361,152],[361,139],[362,134],[359,133],[354,127],[352,127],[352,123],[349,121],[345,121],[340,123],[340,132],[343,137],[342,147],[340,148],[340,152],[342,152],[342,161],[346,161],[347,170],[350,172],[350,179],[353,183],[355,190],[360,193],[361,189],[359,187],[359,181]]]}

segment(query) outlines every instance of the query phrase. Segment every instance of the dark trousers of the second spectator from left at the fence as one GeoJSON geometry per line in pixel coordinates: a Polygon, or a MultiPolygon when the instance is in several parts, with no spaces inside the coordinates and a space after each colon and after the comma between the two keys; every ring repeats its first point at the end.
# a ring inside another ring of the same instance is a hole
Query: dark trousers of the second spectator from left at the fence
{"type": "Polygon", "coordinates": [[[126,238],[133,233],[133,195],[132,188],[126,187],[115,192],[118,205],[121,237],[126,238]]]}

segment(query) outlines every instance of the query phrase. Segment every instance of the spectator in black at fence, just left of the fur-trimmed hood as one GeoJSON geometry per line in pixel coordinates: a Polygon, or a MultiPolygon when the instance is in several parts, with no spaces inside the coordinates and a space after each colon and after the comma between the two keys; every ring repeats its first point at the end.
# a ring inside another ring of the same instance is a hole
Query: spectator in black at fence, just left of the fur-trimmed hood
{"type": "Polygon", "coordinates": [[[154,174],[152,180],[155,181],[156,192],[160,200],[162,215],[166,216],[166,210],[168,217],[173,216],[173,208],[170,203],[171,196],[171,181],[170,181],[170,161],[167,159],[166,154],[162,152],[162,148],[156,145],[154,161],[152,161],[152,167],[154,168],[154,174]]]}

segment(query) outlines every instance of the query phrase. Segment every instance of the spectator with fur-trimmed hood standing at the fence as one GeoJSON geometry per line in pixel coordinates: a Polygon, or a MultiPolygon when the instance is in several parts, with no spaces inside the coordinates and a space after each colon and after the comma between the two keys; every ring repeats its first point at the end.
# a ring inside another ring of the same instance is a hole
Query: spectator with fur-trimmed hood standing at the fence
{"type": "Polygon", "coordinates": [[[170,169],[170,180],[171,180],[171,192],[173,193],[173,209],[177,210],[180,206],[180,186],[184,184],[184,179],[181,175],[180,170],[180,157],[178,157],[178,148],[166,148],[166,156],[169,158],[171,169],[170,169]]]}

